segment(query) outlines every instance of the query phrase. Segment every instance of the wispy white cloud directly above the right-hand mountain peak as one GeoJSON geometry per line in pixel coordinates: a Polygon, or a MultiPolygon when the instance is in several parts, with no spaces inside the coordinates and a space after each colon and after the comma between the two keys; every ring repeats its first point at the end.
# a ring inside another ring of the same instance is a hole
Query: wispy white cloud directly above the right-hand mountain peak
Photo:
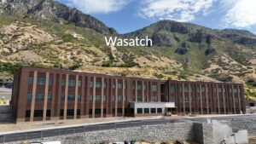
{"type": "Polygon", "coordinates": [[[191,21],[197,14],[207,15],[216,0],[145,0],[139,15],[146,19],[191,21]]]}

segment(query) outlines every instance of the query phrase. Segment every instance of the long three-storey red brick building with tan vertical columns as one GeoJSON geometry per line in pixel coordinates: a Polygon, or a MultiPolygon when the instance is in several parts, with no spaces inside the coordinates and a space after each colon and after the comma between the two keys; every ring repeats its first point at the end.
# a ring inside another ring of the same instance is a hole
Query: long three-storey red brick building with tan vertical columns
{"type": "MultiPolygon", "coordinates": [[[[26,66],[15,73],[11,105],[16,121],[23,122],[133,116],[131,101],[175,102],[177,113],[245,112],[242,84],[160,81],[26,66]]],[[[142,111],[163,113],[154,108],[142,111]]]]}

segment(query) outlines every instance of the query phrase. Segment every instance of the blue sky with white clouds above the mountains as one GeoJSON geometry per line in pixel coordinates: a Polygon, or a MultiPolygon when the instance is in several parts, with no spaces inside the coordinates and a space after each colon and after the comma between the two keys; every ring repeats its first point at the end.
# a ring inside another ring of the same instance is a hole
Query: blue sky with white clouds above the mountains
{"type": "Polygon", "coordinates": [[[119,33],[159,20],[188,22],[212,29],[256,34],[256,0],[57,0],[101,20],[119,33]]]}

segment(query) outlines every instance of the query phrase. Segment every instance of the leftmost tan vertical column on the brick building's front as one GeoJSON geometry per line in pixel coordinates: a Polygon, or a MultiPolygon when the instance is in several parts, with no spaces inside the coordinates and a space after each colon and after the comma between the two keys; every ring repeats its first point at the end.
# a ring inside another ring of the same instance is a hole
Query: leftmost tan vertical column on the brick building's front
{"type": "Polygon", "coordinates": [[[34,120],[34,111],[36,103],[36,92],[37,92],[37,82],[38,82],[38,71],[34,72],[33,76],[33,87],[32,87],[32,102],[31,102],[31,112],[30,112],[30,121],[34,120]]]}

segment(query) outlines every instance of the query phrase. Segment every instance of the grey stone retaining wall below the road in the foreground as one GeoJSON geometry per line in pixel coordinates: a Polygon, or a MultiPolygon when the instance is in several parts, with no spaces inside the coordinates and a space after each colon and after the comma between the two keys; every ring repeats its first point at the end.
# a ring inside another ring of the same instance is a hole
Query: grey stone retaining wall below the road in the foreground
{"type": "Polygon", "coordinates": [[[43,141],[61,141],[63,144],[101,143],[103,141],[196,141],[212,144],[212,124],[170,123],[141,127],[91,131],[77,135],[44,138],[43,141]]]}

